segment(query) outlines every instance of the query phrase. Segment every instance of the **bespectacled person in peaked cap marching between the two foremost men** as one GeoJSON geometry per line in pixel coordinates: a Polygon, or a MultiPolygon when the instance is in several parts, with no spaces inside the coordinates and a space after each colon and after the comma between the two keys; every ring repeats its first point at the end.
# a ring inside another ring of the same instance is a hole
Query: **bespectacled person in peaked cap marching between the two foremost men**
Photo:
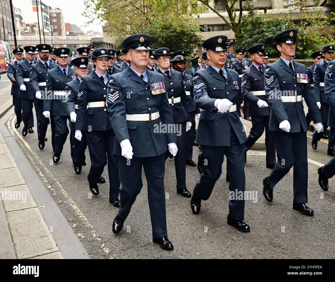
{"type": "MultiPolygon", "coordinates": [[[[185,93],[182,74],[178,71],[170,70],[170,58],[173,53],[168,48],[159,48],[153,54],[158,65],[159,73],[164,75],[167,98],[174,118],[174,126],[177,133],[178,153],[175,156],[175,169],[177,179],[177,193],[183,197],[190,198],[191,193],[186,188],[186,134],[192,127],[188,98],[185,93]]],[[[165,159],[172,158],[166,152],[165,159]]]]}

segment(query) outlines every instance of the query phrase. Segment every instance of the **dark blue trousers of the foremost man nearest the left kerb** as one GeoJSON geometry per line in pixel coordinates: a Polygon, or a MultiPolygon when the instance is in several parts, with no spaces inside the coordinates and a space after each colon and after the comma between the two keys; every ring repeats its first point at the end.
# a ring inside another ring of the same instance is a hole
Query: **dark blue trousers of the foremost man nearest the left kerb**
{"type": "MultiPolygon", "coordinates": [[[[141,192],[142,166],[148,183],[148,202],[150,209],[152,237],[162,238],[167,236],[166,210],[164,190],[164,163],[165,154],[154,157],[133,157],[128,160],[118,156],[119,173],[121,181],[119,216],[126,219],[136,196],[141,192]]],[[[184,164],[185,167],[185,164],[184,164]]]]}

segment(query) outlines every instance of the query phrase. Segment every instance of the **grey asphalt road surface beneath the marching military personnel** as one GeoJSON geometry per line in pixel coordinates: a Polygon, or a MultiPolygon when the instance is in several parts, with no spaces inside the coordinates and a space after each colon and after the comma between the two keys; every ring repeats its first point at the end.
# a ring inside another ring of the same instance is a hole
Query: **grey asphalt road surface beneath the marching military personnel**
{"type": "MultiPolygon", "coordinates": [[[[6,126],[14,131],[15,140],[91,258],[335,258],[335,179],[329,181],[331,188],[328,192],[323,192],[317,183],[317,168],[331,159],[326,154],[327,144],[324,142],[319,142],[318,150],[314,151],[310,145],[311,138],[308,138],[308,205],[315,211],[313,217],[292,209],[292,169],[275,187],[273,203],[267,203],[262,194],[262,180],[271,170],[265,167],[265,152],[248,153],[246,190],[255,196],[245,205],[245,221],[251,227],[250,233],[239,232],[226,223],[229,189],[225,182],[225,161],[224,173],[211,197],[202,202],[200,214],[194,215],[190,199],[176,193],[174,161],[168,159],[165,170],[166,218],[169,239],[175,249],[167,252],[152,243],[144,173],[142,191],[123,230],[115,235],[111,225],[118,209],[109,203],[107,167],[103,173],[106,184],[99,185],[100,194],[93,196],[86,180],[90,166],[88,151],[87,166],[77,175],[70,157],[69,138],[60,162],[54,164],[50,127],[46,147],[41,151],[36,127],[35,133],[23,138],[23,125],[15,130],[14,124],[12,116],[6,126]]],[[[197,147],[193,147],[194,161],[197,161],[199,152],[197,147]]],[[[196,167],[187,166],[186,169],[187,188],[192,192],[200,175],[196,167]]]]}

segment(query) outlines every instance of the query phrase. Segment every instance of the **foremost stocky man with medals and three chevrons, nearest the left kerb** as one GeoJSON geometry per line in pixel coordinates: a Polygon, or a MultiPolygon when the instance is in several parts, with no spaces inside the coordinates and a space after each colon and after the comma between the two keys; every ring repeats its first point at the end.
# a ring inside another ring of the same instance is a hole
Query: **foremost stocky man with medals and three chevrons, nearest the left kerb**
{"type": "Polygon", "coordinates": [[[147,34],[126,38],[122,47],[127,50],[131,65],[126,71],[112,75],[108,84],[108,112],[116,135],[114,152],[119,159],[122,185],[122,205],[114,219],[113,232],[121,231],[141,191],[143,166],[148,183],[152,241],[164,250],[173,250],[166,230],[164,161],[167,147],[173,155],[177,154],[177,137],[176,133],[159,129],[174,121],[164,75],[147,70],[150,42],[147,34]]]}

